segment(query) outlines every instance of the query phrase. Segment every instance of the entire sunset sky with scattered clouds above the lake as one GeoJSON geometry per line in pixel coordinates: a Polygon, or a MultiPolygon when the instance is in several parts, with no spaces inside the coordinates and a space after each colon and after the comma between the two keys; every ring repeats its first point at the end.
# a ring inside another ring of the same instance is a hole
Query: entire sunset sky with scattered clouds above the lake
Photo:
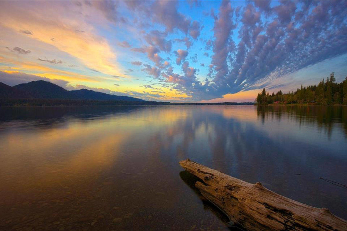
{"type": "Polygon", "coordinates": [[[347,75],[347,1],[0,1],[0,82],[254,101],[347,75]]]}

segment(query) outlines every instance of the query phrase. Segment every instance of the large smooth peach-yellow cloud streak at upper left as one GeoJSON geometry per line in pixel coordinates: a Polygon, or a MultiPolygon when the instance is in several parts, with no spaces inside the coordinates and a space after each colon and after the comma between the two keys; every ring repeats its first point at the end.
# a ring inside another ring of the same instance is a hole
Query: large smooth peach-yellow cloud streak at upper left
{"type": "MultiPolygon", "coordinates": [[[[98,1],[94,3],[105,4],[98,1]]],[[[104,37],[93,33],[95,29],[91,24],[74,15],[76,7],[73,2],[1,2],[0,26],[18,32],[25,28],[35,35],[30,36],[33,39],[68,53],[88,68],[105,74],[121,75],[116,53],[104,37]],[[76,32],[81,27],[85,33],[76,32]]]]}

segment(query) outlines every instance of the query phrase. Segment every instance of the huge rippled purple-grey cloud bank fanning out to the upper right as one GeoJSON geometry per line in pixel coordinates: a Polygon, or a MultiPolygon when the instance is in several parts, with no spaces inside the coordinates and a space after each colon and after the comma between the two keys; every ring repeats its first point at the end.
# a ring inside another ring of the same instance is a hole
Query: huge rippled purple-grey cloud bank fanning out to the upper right
{"type": "Polygon", "coordinates": [[[199,81],[188,62],[182,65],[184,75],[169,69],[163,77],[196,99],[267,86],[273,79],[347,53],[345,4],[280,1],[271,8],[268,1],[255,1],[234,9],[229,1],[222,1],[219,14],[213,13],[214,38],[206,42],[213,51],[211,79],[199,81]]]}

